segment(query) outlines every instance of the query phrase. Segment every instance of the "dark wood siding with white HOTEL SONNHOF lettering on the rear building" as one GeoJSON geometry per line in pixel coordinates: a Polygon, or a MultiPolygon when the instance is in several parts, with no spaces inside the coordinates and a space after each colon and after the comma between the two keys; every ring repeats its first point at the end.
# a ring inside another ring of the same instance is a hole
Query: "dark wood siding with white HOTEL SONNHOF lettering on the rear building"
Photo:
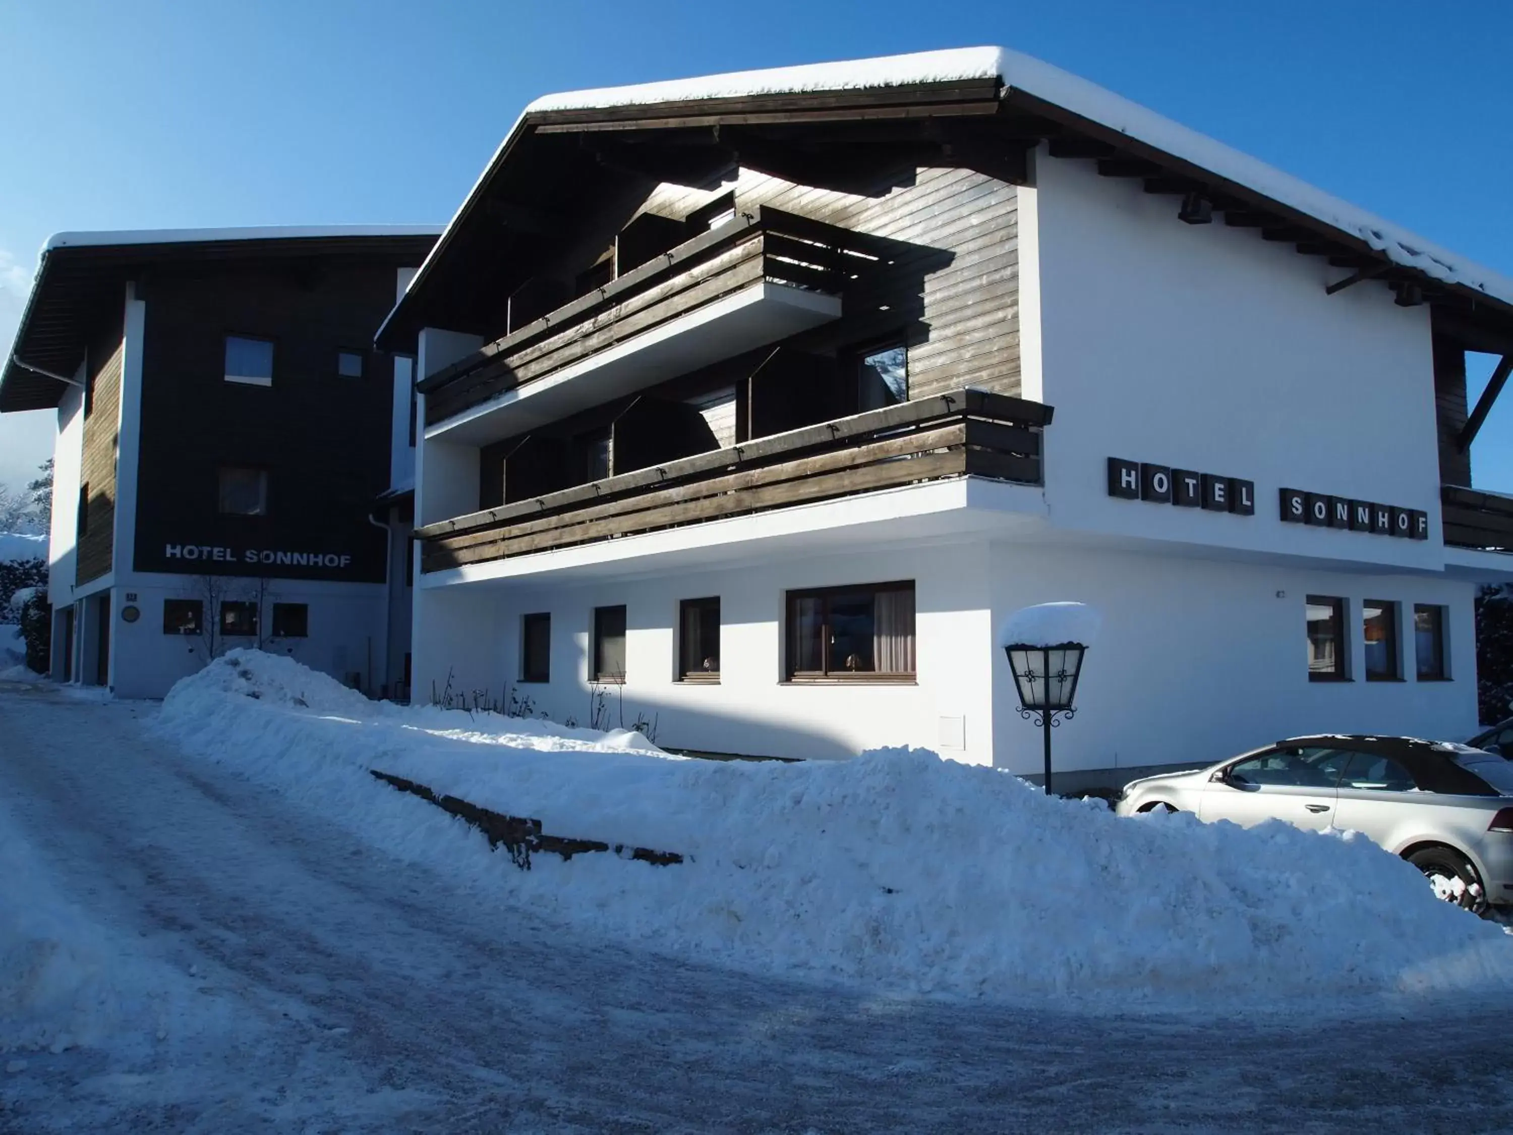
{"type": "Polygon", "coordinates": [[[384,580],[384,534],[366,518],[389,483],[393,363],[371,344],[398,266],[333,257],[154,272],[142,289],[138,571],[384,580]],[[274,342],[271,386],[225,381],[227,334],[274,342]],[[343,350],[363,356],[360,378],[337,374],[343,350]],[[268,471],[266,516],[219,515],[222,465],[268,471]],[[169,552],[189,545],[228,558],[169,552]],[[262,552],[284,557],[248,560],[262,552]]]}

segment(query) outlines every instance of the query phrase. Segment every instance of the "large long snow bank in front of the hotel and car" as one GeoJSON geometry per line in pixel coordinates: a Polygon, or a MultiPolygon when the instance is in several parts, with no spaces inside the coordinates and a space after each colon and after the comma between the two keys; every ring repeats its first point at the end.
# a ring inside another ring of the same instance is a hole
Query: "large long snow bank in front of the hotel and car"
{"type": "Polygon", "coordinates": [[[179,683],[157,728],[492,897],[701,961],[1089,1006],[1513,985],[1498,928],[1365,840],[1121,819],[917,749],[682,760],[634,735],[375,705],[250,651],[179,683]],[[517,872],[368,767],[690,861],[539,855],[517,872]]]}

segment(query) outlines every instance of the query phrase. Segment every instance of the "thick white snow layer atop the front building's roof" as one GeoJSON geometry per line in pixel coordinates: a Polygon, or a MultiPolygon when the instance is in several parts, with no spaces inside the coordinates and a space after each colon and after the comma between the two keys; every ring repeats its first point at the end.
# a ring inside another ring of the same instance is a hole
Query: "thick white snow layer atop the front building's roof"
{"type": "Polygon", "coordinates": [[[991,77],[999,77],[1011,89],[1023,91],[1098,126],[1117,130],[1173,157],[1207,169],[1224,180],[1247,186],[1344,233],[1357,236],[1403,268],[1418,269],[1443,283],[1465,285],[1513,304],[1513,280],[1508,277],[1440,248],[1407,229],[1316,189],[1250,154],[1132,103],[1097,83],[1006,47],[918,51],[879,59],[779,67],[767,71],[735,71],[637,86],[569,91],[537,98],[525,112],[530,115],[699,98],[873,89],[991,77]]]}

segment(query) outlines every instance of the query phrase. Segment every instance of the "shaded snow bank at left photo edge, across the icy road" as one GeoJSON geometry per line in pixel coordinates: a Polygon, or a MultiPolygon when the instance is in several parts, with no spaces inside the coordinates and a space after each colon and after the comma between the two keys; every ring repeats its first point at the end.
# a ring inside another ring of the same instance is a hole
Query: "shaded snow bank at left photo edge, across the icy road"
{"type": "Polygon", "coordinates": [[[0,804],[0,1052],[162,1040],[188,996],[182,975],[64,896],[0,804]]]}

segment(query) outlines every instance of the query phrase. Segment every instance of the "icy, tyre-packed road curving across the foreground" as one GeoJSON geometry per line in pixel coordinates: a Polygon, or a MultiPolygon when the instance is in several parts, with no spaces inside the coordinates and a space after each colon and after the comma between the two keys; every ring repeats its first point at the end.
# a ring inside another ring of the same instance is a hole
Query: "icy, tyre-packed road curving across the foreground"
{"type": "Polygon", "coordinates": [[[676,964],[481,908],[165,751],[154,711],[0,684],[0,804],[188,991],[0,1053],[0,1132],[1513,1127],[1510,1005],[1089,1018],[676,964]]]}

